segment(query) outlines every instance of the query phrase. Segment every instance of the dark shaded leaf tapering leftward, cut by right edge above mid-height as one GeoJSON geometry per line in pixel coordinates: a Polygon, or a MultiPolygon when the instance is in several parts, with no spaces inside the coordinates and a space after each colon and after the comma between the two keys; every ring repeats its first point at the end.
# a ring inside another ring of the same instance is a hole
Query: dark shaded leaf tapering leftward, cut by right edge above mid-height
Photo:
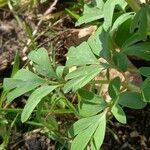
{"type": "Polygon", "coordinates": [[[137,56],[139,58],[145,59],[147,61],[150,60],[150,43],[142,42],[131,45],[129,47],[124,47],[122,52],[126,53],[130,56],[137,56]]]}

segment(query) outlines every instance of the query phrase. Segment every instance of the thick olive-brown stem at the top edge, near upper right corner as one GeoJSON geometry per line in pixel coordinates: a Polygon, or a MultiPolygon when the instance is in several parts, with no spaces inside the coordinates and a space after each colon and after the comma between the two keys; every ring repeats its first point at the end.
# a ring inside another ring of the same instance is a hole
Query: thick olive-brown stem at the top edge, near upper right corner
{"type": "Polygon", "coordinates": [[[135,12],[138,12],[140,10],[140,4],[138,0],[125,0],[125,1],[135,12]]]}

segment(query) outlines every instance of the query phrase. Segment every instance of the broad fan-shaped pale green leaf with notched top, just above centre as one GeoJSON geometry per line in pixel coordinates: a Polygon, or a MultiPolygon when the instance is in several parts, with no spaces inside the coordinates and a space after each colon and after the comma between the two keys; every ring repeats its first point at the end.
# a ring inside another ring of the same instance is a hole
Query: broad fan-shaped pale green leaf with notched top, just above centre
{"type": "Polygon", "coordinates": [[[88,64],[99,64],[98,60],[91,51],[87,42],[81,43],[79,46],[71,47],[67,54],[66,66],[80,66],[88,64]]]}

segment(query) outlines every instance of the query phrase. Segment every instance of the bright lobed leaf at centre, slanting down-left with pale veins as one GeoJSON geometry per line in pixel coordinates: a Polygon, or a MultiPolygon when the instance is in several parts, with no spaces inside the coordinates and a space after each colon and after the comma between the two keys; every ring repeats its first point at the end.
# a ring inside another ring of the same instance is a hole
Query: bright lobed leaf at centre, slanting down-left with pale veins
{"type": "Polygon", "coordinates": [[[84,66],[69,73],[66,79],[71,79],[64,85],[64,92],[67,93],[70,90],[76,91],[89,83],[97,74],[99,74],[103,68],[101,66],[84,66]]]}

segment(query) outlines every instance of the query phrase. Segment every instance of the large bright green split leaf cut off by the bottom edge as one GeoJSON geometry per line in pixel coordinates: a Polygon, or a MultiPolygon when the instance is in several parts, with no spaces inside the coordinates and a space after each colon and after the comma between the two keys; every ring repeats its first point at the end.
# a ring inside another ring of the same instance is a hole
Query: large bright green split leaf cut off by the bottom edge
{"type": "Polygon", "coordinates": [[[79,126],[80,130],[78,130],[78,134],[71,144],[71,150],[84,150],[90,139],[94,140],[94,144],[97,148],[101,146],[104,140],[106,129],[106,113],[103,112],[100,115],[89,118],[94,118],[96,120],[89,120],[91,122],[88,121],[88,123],[80,124],[82,126],[82,129],[79,126]],[[85,126],[86,128],[83,128],[83,126],[85,126]]]}

